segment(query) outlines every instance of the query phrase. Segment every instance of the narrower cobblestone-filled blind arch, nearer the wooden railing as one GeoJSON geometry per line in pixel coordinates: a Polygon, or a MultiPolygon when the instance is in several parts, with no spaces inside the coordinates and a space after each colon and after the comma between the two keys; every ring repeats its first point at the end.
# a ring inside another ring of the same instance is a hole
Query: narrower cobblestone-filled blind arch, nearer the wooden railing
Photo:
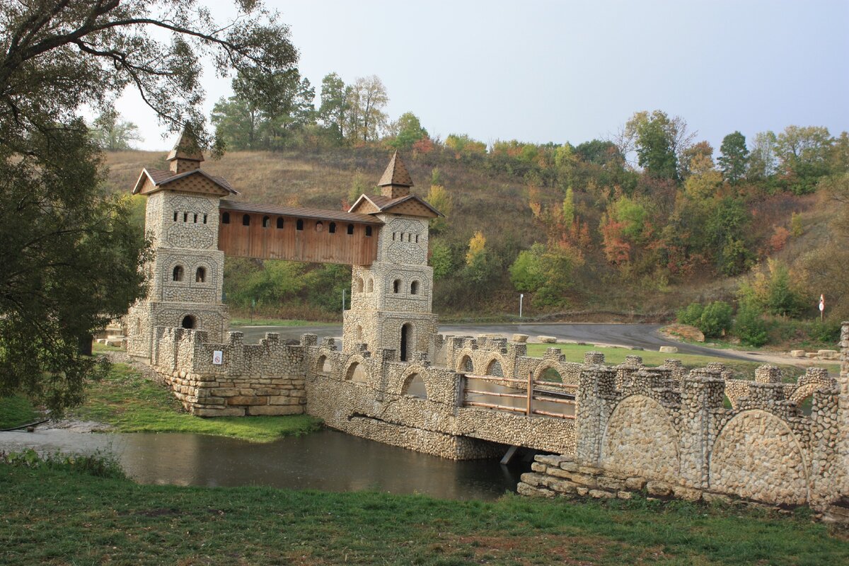
{"type": "Polygon", "coordinates": [[[666,409],[645,395],[620,401],[604,428],[600,463],[623,474],[678,479],[678,432],[666,409]]]}

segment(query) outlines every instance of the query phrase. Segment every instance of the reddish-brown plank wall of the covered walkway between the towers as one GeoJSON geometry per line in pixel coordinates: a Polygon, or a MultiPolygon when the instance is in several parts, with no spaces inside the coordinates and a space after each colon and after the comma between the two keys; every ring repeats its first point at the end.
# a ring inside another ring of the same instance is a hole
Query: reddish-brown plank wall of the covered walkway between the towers
{"type": "Polygon", "coordinates": [[[371,265],[377,258],[379,226],[239,210],[221,210],[219,214],[225,212],[230,222],[218,222],[218,249],[226,255],[357,266],[371,265]],[[250,217],[250,226],[243,224],[245,214],[250,217]],[[267,218],[267,227],[262,226],[263,218],[267,218]],[[277,227],[278,218],[283,219],[282,228],[277,227]],[[298,220],[303,221],[303,230],[296,229],[298,220]],[[318,222],[321,230],[317,230],[318,222]],[[330,233],[331,222],[335,222],[335,233],[330,233]],[[347,233],[349,224],[353,234],[347,233]],[[371,236],[366,235],[367,227],[371,236]]]}

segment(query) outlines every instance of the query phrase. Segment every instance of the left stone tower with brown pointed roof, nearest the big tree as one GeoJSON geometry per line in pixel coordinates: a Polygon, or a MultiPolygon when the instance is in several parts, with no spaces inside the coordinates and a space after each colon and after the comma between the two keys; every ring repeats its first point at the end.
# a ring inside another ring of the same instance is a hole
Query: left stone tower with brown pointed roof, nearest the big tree
{"type": "Polygon", "coordinates": [[[236,191],[200,169],[204,158],[188,132],[167,160],[169,171],[144,169],[132,189],[148,198],[144,224],[154,255],[144,266],[148,295],[127,313],[127,353],[148,360],[156,327],[197,328],[220,340],[229,325],[218,201],[236,191]]]}

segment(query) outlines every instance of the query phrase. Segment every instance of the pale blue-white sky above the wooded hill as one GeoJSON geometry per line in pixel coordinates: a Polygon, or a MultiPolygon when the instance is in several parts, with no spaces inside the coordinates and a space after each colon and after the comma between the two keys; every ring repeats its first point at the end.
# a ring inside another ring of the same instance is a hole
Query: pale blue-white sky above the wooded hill
{"type": "MultiPolygon", "coordinates": [[[[329,72],[377,75],[390,118],[412,111],[431,137],[577,144],[644,109],[683,116],[717,152],[734,130],[849,130],[849,0],[267,5],[317,99],[329,72]]],[[[208,114],[232,92],[211,72],[204,84],[208,114]]],[[[171,147],[136,96],[118,109],[142,149],[171,147]]]]}

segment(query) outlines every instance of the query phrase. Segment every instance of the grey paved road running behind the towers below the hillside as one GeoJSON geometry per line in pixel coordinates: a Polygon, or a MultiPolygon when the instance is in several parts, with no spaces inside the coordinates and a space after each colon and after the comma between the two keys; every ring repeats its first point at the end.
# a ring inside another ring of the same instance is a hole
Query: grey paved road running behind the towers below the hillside
{"type": "MultiPolygon", "coordinates": [[[[574,342],[587,342],[588,344],[620,345],[627,347],[640,347],[645,350],[657,351],[661,346],[676,346],[682,354],[702,354],[735,360],[757,359],[756,357],[739,356],[725,350],[714,350],[704,346],[683,344],[666,339],[657,333],[660,324],[569,324],[540,322],[531,324],[441,324],[439,331],[444,334],[455,336],[473,335],[481,333],[513,333],[528,334],[533,337],[538,335],[556,336],[558,339],[571,340],[574,342]]],[[[332,336],[340,339],[342,327],[339,325],[327,326],[296,326],[296,327],[241,327],[233,328],[245,333],[246,344],[256,344],[267,332],[277,332],[282,339],[297,339],[303,333],[318,334],[319,339],[332,336]]]]}

